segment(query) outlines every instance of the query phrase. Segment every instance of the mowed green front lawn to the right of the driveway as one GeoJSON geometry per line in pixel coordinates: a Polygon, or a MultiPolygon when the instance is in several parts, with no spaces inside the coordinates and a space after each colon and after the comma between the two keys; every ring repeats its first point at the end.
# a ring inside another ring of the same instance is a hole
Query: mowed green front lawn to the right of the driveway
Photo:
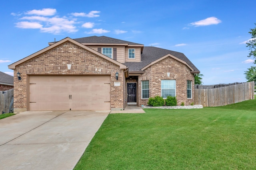
{"type": "Polygon", "coordinates": [[[75,170],[256,169],[256,100],[110,114],[75,170]]]}

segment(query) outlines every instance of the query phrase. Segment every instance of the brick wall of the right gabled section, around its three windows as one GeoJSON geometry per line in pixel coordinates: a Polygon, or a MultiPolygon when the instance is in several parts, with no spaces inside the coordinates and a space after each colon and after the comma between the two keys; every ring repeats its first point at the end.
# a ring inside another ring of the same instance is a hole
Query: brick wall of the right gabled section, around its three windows
{"type": "Polygon", "coordinates": [[[176,80],[177,105],[184,102],[185,106],[194,102],[194,74],[183,63],[171,57],[146,68],[146,72],[138,77],[138,106],[148,105],[148,99],[142,99],[142,80],[149,80],[150,97],[161,96],[161,80],[176,80]],[[170,72],[168,77],[167,72],[170,72]],[[187,80],[192,81],[192,98],[187,98],[187,80]]]}

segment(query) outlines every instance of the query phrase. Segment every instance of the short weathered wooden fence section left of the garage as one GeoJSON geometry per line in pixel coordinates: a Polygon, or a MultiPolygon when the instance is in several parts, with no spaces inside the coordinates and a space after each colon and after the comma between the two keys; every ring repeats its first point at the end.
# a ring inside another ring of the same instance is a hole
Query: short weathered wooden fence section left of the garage
{"type": "Polygon", "coordinates": [[[0,114],[13,113],[13,88],[6,91],[0,91],[0,111],[0,114]]]}

